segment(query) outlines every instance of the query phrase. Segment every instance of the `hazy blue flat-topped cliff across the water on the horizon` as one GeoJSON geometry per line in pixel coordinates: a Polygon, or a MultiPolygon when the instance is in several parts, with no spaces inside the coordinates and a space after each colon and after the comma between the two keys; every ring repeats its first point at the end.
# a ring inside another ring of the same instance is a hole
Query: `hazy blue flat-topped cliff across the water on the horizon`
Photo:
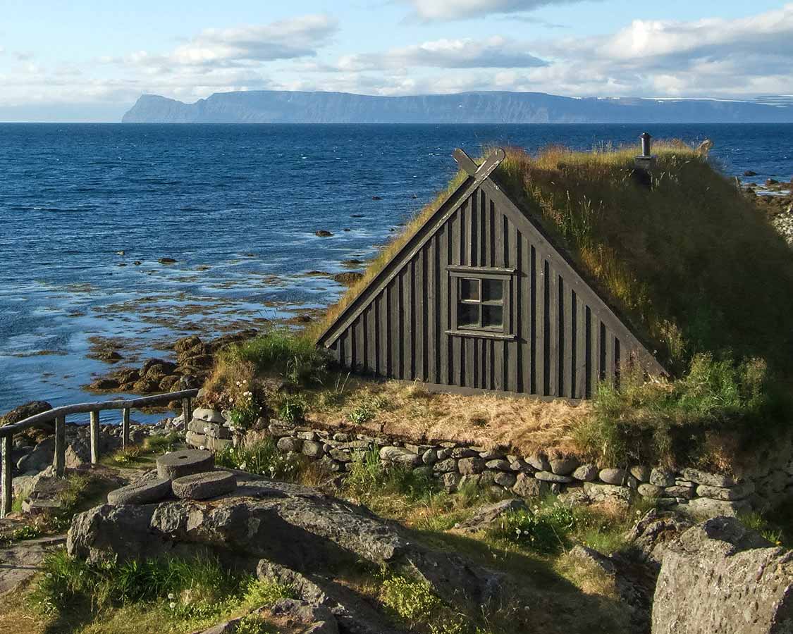
{"type": "Polygon", "coordinates": [[[793,105],[710,99],[558,97],[483,92],[414,97],[258,90],[194,104],[144,94],[124,123],[568,124],[793,123],[793,105]]]}

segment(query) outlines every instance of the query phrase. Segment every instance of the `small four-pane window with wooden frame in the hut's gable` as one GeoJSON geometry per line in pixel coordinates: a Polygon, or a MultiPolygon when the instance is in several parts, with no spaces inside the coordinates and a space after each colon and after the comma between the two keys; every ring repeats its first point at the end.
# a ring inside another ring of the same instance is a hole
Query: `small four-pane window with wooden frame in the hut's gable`
{"type": "Polygon", "coordinates": [[[452,295],[450,334],[510,335],[507,269],[449,267],[452,295]]]}

